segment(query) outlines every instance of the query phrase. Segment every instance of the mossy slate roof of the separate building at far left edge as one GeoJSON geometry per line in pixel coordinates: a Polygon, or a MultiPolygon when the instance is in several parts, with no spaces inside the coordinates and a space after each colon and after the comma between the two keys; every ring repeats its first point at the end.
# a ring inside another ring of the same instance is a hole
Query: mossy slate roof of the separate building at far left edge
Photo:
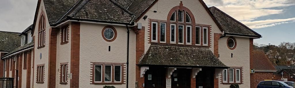
{"type": "Polygon", "coordinates": [[[9,52],[20,45],[20,33],[0,31],[0,51],[9,52]]]}

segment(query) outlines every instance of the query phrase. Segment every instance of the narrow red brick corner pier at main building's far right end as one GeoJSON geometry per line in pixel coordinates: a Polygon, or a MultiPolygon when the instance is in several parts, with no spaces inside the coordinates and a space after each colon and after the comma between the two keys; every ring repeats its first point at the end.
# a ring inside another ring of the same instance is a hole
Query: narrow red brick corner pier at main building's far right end
{"type": "MultiPolygon", "coordinates": [[[[253,38],[249,38],[249,51],[250,51],[250,69],[253,69],[253,38]]],[[[255,88],[254,86],[254,74],[250,74],[250,88],[255,88]]]]}

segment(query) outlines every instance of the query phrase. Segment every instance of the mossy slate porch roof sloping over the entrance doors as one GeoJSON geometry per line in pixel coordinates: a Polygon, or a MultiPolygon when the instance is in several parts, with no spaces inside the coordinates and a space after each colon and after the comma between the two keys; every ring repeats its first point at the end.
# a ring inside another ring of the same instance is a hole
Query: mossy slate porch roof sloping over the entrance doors
{"type": "Polygon", "coordinates": [[[209,48],[151,44],[139,65],[227,68],[209,48]]]}

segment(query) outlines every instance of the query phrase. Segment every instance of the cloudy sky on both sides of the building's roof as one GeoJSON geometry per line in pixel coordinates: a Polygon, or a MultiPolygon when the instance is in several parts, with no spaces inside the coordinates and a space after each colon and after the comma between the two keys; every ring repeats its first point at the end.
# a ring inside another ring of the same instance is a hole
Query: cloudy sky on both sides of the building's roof
{"type": "MultiPolygon", "coordinates": [[[[204,0],[258,32],[259,44],[295,42],[295,0],[204,0]]],[[[33,23],[37,0],[0,0],[0,31],[22,32],[33,23]]]]}

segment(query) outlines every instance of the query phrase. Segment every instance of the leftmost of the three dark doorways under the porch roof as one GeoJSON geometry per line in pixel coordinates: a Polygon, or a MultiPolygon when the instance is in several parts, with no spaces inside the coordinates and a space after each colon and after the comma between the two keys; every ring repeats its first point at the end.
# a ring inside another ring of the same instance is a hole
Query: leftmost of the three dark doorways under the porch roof
{"type": "Polygon", "coordinates": [[[150,67],[145,72],[145,88],[166,88],[166,69],[150,67]]]}

